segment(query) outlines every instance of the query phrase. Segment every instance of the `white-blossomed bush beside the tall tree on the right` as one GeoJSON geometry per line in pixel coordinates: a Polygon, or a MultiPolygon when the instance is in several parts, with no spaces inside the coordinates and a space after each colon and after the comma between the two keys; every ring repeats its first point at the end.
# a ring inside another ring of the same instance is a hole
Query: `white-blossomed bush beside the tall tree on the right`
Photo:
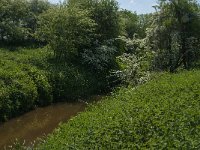
{"type": "Polygon", "coordinates": [[[149,50],[146,39],[127,39],[120,37],[125,53],[117,57],[120,70],[115,74],[125,84],[138,85],[150,79],[150,70],[154,54],[149,50]]]}

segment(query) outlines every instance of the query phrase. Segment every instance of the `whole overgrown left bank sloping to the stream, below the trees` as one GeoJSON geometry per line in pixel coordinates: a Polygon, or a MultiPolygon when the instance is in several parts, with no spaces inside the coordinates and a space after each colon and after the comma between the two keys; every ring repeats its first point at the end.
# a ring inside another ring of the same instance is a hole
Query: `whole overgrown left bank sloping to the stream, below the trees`
{"type": "Polygon", "coordinates": [[[48,48],[0,49],[0,122],[37,106],[98,93],[101,84],[78,65],[56,63],[48,48]]]}

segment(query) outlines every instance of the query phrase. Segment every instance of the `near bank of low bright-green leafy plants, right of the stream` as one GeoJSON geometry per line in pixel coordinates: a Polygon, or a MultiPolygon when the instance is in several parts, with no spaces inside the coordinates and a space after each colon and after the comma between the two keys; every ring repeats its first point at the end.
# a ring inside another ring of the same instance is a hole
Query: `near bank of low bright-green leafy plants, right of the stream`
{"type": "Polygon", "coordinates": [[[199,149],[200,71],[122,88],[62,124],[39,149],[199,149]]]}

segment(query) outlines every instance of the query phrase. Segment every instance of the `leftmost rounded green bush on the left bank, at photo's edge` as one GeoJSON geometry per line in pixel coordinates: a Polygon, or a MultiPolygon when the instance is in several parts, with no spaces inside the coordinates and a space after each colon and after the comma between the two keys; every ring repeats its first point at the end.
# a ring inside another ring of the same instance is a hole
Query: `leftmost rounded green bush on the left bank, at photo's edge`
{"type": "Polygon", "coordinates": [[[32,109],[37,100],[38,93],[35,83],[25,72],[22,72],[17,64],[9,61],[1,61],[1,103],[0,120],[16,116],[32,109]],[[4,64],[5,65],[2,65],[4,64]]]}

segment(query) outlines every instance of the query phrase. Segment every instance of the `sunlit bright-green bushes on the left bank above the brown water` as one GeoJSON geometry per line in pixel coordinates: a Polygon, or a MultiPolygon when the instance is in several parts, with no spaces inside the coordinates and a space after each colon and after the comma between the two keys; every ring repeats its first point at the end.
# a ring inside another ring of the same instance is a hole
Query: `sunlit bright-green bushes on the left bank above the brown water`
{"type": "Polygon", "coordinates": [[[24,64],[23,60],[14,60],[23,59],[23,55],[14,56],[12,52],[4,50],[0,55],[0,121],[27,112],[35,105],[43,106],[52,102],[52,88],[45,71],[24,64]]]}

